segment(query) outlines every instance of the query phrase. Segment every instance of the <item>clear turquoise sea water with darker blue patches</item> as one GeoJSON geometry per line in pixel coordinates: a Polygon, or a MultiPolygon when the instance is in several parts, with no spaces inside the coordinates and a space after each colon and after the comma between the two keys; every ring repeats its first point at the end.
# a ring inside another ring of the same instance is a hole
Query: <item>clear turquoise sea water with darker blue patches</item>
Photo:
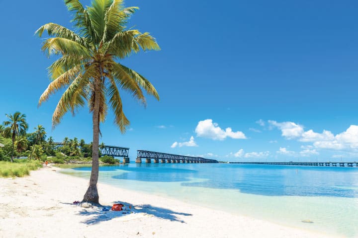
{"type": "MultiPolygon", "coordinates": [[[[63,173],[89,178],[90,167],[63,173]]],[[[132,163],[100,167],[99,181],[286,226],[358,237],[358,168],[132,163]]]]}

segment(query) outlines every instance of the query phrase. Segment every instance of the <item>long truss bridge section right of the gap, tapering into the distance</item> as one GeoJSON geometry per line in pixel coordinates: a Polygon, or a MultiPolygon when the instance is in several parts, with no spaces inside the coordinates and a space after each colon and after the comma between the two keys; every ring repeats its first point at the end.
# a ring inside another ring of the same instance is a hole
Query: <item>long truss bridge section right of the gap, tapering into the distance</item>
{"type": "Polygon", "coordinates": [[[154,163],[159,163],[159,160],[161,163],[219,163],[216,160],[204,159],[201,157],[137,150],[136,163],[142,163],[142,159],[146,159],[146,163],[152,163],[151,159],[154,159],[154,163]]]}

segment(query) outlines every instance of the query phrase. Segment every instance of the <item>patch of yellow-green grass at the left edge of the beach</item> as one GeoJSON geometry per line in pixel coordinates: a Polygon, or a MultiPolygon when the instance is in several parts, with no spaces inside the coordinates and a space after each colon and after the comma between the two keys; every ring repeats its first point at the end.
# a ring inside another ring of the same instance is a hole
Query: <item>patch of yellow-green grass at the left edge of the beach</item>
{"type": "Polygon", "coordinates": [[[0,161],[0,177],[24,177],[31,170],[42,166],[40,161],[15,160],[13,163],[0,161]]]}

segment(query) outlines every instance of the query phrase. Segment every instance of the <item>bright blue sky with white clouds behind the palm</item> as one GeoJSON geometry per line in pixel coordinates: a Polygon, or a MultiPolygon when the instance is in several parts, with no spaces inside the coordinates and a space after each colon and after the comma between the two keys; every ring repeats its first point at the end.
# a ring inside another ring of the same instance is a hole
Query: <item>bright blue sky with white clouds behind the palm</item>
{"type": "MultiPolygon", "coordinates": [[[[30,128],[42,124],[55,140],[91,141],[87,108],[51,131],[61,92],[37,108],[53,59],[41,53],[34,32],[48,22],[71,26],[63,1],[6,4],[0,120],[20,111],[30,128]]],[[[151,32],[162,51],[123,64],[150,79],[161,100],[148,98],[144,109],[124,94],[130,129],[121,135],[109,114],[101,141],[130,147],[132,160],[137,149],[229,161],[357,160],[357,1],[126,4],[141,8],[129,26],[151,32]]]]}

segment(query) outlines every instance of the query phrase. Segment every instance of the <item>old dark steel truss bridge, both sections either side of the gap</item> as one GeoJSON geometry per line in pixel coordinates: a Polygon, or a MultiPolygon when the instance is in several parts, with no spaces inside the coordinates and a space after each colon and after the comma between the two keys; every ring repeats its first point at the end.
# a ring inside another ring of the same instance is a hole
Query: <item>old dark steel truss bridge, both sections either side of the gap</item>
{"type": "MultiPolygon", "coordinates": [[[[59,149],[63,147],[64,144],[60,142],[54,143],[54,149],[59,149]]],[[[113,156],[113,157],[123,157],[123,163],[129,163],[129,148],[104,145],[99,146],[99,151],[101,155],[113,156]]],[[[145,159],[146,163],[219,163],[216,160],[205,159],[201,157],[191,157],[184,155],[174,155],[161,152],[147,151],[147,150],[137,150],[137,159],[136,163],[142,163],[142,159],[145,159]]]]}

